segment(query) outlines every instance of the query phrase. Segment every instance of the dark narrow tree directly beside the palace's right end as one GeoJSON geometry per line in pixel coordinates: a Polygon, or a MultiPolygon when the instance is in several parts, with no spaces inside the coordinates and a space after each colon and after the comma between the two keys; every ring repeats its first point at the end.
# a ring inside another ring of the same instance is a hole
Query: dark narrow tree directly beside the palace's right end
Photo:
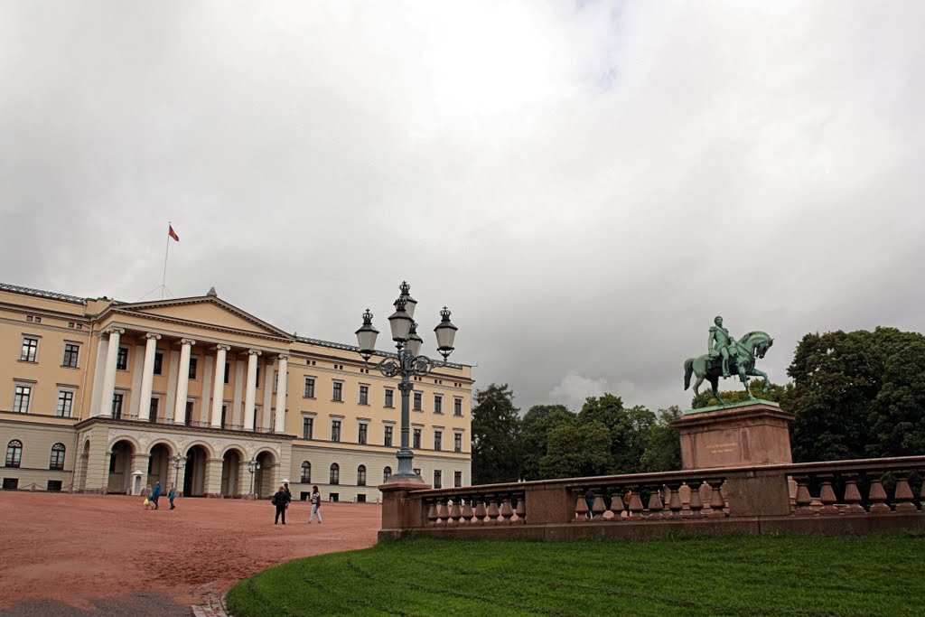
{"type": "Polygon", "coordinates": [[[507,384],[475,392],[472,410],[472,483],[516,482],[520,470],[520,416],[507,384]]]}

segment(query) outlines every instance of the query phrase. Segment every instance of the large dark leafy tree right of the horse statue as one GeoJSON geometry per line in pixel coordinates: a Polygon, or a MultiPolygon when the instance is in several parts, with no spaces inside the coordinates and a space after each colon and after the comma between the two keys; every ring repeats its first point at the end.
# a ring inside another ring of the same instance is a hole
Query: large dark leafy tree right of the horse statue
{"type": "Polygon", "coordinates": [[[922,453],[923,342],[917,332],[892,327],[806,335],[787,369],[793,386],[781,401],[796,413],[796,461],[922,453]]]}

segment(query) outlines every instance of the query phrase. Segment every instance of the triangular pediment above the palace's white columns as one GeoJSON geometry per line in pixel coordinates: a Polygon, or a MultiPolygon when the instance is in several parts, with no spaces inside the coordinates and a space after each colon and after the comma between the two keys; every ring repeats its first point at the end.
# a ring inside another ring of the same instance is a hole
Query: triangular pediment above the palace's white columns
{"type": "Polygon", "coordinates": [[[185,324],[201,324],[239,332],[253,332],[282,339],[292,338],[288,332],[241,311],[233,304],[219,300],[215,296],[120,304],[114,306],[113,309],[119,313],[150,315],[185,324]]]}

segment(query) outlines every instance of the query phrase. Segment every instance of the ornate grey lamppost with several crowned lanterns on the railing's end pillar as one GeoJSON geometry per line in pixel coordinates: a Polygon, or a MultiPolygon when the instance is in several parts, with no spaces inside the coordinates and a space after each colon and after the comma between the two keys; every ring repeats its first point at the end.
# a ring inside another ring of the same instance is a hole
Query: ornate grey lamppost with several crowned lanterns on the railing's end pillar
{"type": "MultiPolygon", "coordinates": [[[[388,326],[391,329],[392,340],[398,352],[394,357],[387,357],[376,364],[376,370],[384,376],[400,376],[399,391],[401,391],[401,450],[396,454],[399,460],[398,472],[389,477],[389,483],[402,481],[422,481],[421,476],[414,473],[412,460],[414,454],[409,448],[408,437],[411,418],[409,416],[409,397],[414,386],[411,376],[425,376],[435,368],[449,364],[447,358],[453,351],[453,339],[456,337],[457,327],[450,323],[450,310],[444,306],[440,311],[440,323],[434,328],[437,334],[437,351],[443,360],[431,360],[425,355],[419,355],[421,344],[424,342],[417,334],[417,324],[414,322],[414,308],[417,306],[410,294],[411,286],[402,281],[399,286],[401,295],[394,302],[395,313],[388,317],[388,326]]],[[[376,353],[376,336],[379,331],[373,326],[373,314],[366,309],[363,314],[363,326],[356,331],[356,339],[360,347],[360,355],[364,362],[376,353]]]]}

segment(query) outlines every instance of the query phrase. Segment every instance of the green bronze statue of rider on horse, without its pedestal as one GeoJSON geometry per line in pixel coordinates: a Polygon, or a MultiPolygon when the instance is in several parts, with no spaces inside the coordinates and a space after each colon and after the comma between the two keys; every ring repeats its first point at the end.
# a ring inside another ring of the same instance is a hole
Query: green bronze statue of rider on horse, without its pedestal
{"type": "Polygon", "coordinates": [[[774,343],[774,339],[767,333],[761,331],[749,332],[741,339],[735,340],[729,334],[729,330],[722,327],[722,317],[717,316],[713,320],[714,326],[709,328],[709,339],[707,339],[707,353],[698,358],[688,358],[685,360],[685,389],[690,388],[691,375],[697,376],[694,383],[694,398],[698,403],[700,393],[697,391],[704,379],[707,379],[713,387],[713,396],[716,397],[720,404],[725,404],[720,398],[720,392],[717,386],[720,383],[720,377],[729,377],[738,375],[745,386],[748,399],[754,401],[755,397],[751,390],[748,389],[748,376],[764,377],[764,388],[761,390],[767,392],[771,385],[768,383],[768,374],[762,373],[755,367],[755,361],[763,358],[764,354],[774,343]]]}

